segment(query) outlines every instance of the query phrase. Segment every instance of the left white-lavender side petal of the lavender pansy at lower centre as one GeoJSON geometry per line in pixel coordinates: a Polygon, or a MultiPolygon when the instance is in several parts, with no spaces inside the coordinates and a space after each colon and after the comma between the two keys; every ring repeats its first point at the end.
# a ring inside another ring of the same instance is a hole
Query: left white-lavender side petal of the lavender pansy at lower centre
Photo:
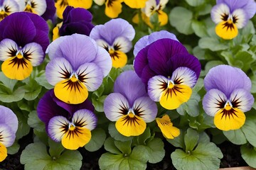
{"type": "Polygon", "coordinates": [[[117,121],[122,115],[129,111],[127,99],[119,93],[112,93],[105,98],[104,112],[106,117],[111,121],[117,121]]]}

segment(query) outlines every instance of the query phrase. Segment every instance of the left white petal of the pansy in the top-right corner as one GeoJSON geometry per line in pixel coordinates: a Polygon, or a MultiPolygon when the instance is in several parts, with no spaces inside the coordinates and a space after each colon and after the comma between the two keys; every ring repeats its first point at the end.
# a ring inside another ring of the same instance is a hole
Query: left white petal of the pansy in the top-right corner
{"type": "Polygon", "coordinates": [[[230,8],[226,4],[218,4],[213,6],[210,11],[210,16],[214,23],[220,23],[223,21],[223,15],[230,15],[230,8]]]}

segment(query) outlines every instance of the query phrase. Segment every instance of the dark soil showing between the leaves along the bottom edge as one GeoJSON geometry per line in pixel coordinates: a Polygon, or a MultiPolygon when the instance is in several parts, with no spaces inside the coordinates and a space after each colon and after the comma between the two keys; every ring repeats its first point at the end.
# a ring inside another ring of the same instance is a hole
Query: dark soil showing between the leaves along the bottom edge
{"type": "MultiPolygon", "coordinates": [[[[0,169],[3,170],[23,170],[24,166],[20,163],[20,156],[22,150],[31,142],[33,142],[33,132],[30,132],[25,137],[21,138],[18,143],[21,145],[18,153],[9,154],[4,162],[0,163],[0,169]]],[[[175,148],[172,147],[169,142],[164,141],[166,155],[164,159],[157,164],[147,164],[146,170],[174,170],[174,166],[171,164],[171,152],[174,152],[175,148]]],[[[221,151],[223,152],[223,159],[221,159],[220,168],[226,167],[238,167],[238,166],[247,166],[245,161],[242,159],[240,154],[240,146],[233,145],[230,142],[223,142],[221,145],[218,145],[221,151]]],[[[97,164],[100,155],[105,152],[105,149],[102,147],[96,152],[87,152],[85,148],[79,149],[80,153],[83,156],[81,170],[97,170],[100,169],[97,164]]]]}

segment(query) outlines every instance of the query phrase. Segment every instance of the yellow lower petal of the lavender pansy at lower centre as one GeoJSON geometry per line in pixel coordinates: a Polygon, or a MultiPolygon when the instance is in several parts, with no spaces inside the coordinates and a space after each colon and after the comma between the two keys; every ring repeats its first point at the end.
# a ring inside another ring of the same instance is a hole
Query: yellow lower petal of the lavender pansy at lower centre
{"type": "Polygon", "coordinates": [[[146,129],[146,123],[139,116],[129,113],[129,115],[123,115],[122,118],[119,118],[115,127],[124,136],[139,136],[146,129]]]}

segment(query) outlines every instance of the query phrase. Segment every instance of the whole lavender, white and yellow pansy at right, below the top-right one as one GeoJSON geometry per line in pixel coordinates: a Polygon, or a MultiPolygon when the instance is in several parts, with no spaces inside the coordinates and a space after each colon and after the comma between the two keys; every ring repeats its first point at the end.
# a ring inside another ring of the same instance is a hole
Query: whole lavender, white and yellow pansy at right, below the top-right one
{"type": "Polygon", "coordinates": [[[245,112],[250,111],[254,98],[252,83],[241,69],[219,65],[210,69],[204,79],[206,96],[203,109],[214,116],[220,130],[237,130],[245,123],[245,112]]]}

